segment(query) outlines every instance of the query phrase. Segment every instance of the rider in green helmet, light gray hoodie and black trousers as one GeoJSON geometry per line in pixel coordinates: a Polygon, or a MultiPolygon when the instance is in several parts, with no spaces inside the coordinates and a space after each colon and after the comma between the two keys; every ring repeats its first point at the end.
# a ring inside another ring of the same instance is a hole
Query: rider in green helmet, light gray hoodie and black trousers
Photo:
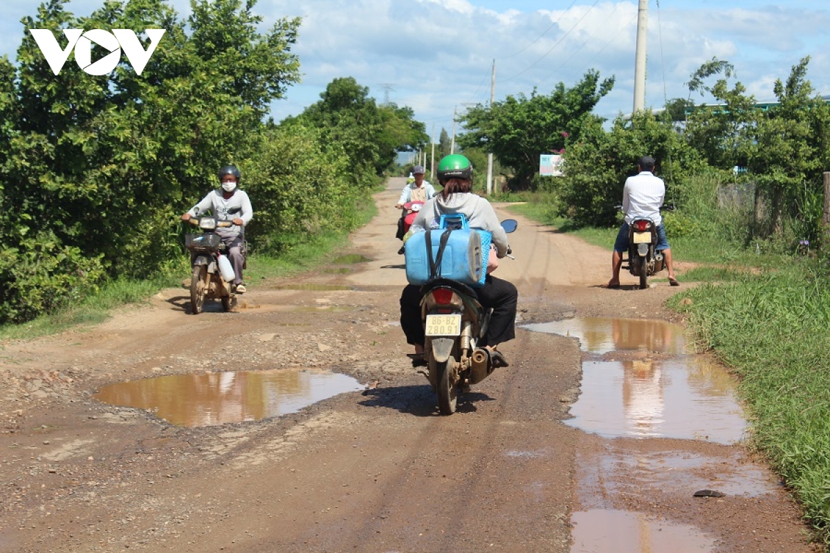
{"type": "MultiPolygon", "coordinates": [[[[473,194],[472,165],[461,154],[451,154],[438,163],[438,182],[444,189],[418,211],[413,227],[424,229],[437,226],[442,215],[462,213],[470,228],[488,230],[493,235],[496,255],[499,258],[508,253],[507,233],[501,227],[496,211],[485,198],[473,194]]],[[[481,305],[493,308],[490,325],[480,342],[491,351],[494,366],[507,366],[505,357],[496,350],[501,342],[515,338],[516,305],[519,292],[516,287],[504,279],[497,279],[487,274],[485,284],[476,289],[481,305]]],[[[415,347],[413,366],[424,366],[423,359],[424,330],[421,321],[421,287],[409,284],[401,294],[401,327],[407,337],[407,343],[415,347]]]]}

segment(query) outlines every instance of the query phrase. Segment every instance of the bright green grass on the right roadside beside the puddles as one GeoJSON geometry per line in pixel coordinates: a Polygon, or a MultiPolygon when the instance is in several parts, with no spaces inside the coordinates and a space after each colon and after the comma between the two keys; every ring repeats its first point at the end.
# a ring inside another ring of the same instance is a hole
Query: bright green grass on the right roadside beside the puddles
{"type": "Polygon", "coordinates": [[[793,488],[827,546],[830,283],[809,263],[702,284],[670,305],[687,314],[701,345],[740,376],[739,392],[754,419],[751,445],[793,488]]]}

